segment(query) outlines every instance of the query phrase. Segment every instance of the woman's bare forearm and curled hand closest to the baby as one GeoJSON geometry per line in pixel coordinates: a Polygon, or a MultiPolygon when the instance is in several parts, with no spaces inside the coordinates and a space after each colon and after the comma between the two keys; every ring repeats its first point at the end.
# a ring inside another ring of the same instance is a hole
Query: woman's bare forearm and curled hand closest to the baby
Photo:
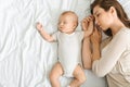
{"type": "Polygon", "coordinates": [[[84,30],[82,42],[82,63],[84,69],[92,67],[90,36],[93,33],[93,16],[90,15],[84,17],[81,23],[82,29],[84,30]]]}

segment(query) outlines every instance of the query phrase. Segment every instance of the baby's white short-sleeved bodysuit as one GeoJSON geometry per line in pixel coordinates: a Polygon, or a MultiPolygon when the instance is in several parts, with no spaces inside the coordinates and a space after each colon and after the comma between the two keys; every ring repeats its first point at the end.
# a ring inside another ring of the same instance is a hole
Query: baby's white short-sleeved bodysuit
{"type": "Polygon", "coordinates": [[[63,66],[81,63],[81,41],[83,32],[65,34],[56,32],[53,34],[54,39],[58,42],[58,61],[63,66]]]}

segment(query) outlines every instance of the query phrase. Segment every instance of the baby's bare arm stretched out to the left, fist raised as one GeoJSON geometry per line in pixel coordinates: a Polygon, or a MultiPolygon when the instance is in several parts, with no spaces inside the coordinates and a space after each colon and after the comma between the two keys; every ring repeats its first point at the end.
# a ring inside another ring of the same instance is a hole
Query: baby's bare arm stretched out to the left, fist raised
{"type": "Polygon", "coordinates": [[[36,27],[37,27],[38,32],[40,33],[40,35],[47,41],[54,41],[54,38],[44,30],[44,28],[42,27],[42,25],[40,23],[37,23],[36,27]]]}

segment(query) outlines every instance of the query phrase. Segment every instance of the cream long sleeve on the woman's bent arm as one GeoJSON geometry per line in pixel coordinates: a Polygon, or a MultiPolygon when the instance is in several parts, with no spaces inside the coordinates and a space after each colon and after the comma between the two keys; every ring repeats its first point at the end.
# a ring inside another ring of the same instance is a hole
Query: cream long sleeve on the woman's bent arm
{"type": "Polygon", "coordinates": [[[105,76],[116,65],[121,54],[125,52],[129,44],[129,35],[125,32],[114,36],[112,41],[102,50],[100,60],[95,60],[92,64],[92,71],[100,77],[105,76]]]}

